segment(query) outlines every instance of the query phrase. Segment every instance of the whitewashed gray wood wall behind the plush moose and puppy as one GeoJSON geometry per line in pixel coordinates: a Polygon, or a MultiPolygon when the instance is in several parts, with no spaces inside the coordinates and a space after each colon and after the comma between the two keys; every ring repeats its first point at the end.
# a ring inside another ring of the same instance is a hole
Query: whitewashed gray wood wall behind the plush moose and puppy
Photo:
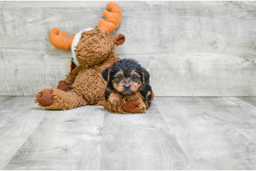
{"type": "MultiPolygon", "coordinates": [[[[255,96],[255,1],[115,1],[123,18],[113,32],[151,74],[156,96],[255,96]]],[[[53,27],[69,35],[98,24],[106,1],[1,1],[0,95],[56,87],[71,51],[55,49],[53,27]]]]}

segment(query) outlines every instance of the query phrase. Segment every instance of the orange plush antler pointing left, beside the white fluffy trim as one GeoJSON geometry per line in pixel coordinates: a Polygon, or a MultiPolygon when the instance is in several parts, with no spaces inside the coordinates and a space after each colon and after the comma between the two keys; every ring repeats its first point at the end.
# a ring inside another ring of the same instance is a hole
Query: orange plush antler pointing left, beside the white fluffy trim
{"type": "Polygon", "coordinates": [[[53,28],[49,33],[49,40],[51,44],[61,50],[71,50],[71,44],[76,34],[72,34],[67,39],[67,32],[62,30],[59,34],[59,28],[53,28]]]}

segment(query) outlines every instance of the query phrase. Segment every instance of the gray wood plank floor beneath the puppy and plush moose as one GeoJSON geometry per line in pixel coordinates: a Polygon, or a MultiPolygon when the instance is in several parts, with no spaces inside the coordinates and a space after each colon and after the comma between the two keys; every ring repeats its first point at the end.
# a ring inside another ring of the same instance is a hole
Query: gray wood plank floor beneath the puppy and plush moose
{"type": "Polygon", "coordinates": [[[155,97],[144,114],[0,96],[0,170],[254,170],[255,97],[155,97]]]}

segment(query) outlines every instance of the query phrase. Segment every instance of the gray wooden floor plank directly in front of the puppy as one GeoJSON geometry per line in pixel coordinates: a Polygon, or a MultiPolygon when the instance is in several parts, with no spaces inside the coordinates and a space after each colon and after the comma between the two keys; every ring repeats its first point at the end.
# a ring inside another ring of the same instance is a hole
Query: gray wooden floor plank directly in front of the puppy
{"type": "Polygon", "coordinates": [[[144,114],[105,110],[101,170],[182,170],[188,159],[152,104],[144,114]]]}

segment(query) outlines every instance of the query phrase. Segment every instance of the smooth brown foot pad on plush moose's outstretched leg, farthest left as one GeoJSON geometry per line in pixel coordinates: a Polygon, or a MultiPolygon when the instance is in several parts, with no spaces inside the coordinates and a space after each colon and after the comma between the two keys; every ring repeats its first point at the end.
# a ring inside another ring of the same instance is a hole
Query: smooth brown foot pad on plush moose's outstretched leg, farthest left
{"type": "Polygon", "coordinates": [[[43,106],[51,106],[54,102],[53,96],[50,89],[43,89],[38,93],[37,101],[43,106]]]}

